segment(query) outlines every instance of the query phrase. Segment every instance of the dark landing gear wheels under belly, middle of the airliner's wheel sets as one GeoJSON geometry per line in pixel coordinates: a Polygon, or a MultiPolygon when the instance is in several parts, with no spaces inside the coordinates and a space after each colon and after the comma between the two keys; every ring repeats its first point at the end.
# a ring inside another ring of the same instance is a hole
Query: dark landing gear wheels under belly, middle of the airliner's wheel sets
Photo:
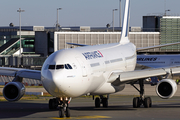
{"type": "MultiPolygon", "coordinates": [[[[103,107],[108,107],[108,98],[109,95],[107,95],[107,97],[104,97],[103,95],[100,95],[100,97],[96,97],[95,107],[99,108],[101,104],[103,105],[103,107]]],[[[94,100],[94,96],[93,96],[93,100],[94,100]]]]}

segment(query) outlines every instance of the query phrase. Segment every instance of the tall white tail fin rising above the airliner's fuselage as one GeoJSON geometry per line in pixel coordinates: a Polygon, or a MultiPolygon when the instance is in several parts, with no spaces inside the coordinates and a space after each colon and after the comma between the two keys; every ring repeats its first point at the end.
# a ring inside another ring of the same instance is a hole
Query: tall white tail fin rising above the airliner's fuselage
{"type": "Polygon", "coordinates": [[[121,32],[121,38],[119,43],[126,44],[129,43],[128,34],[129,34],[129,18],[130,18],[130,1],[126,0],[125,9],[124,9],[124,18],[123,26],[121,32]]]}

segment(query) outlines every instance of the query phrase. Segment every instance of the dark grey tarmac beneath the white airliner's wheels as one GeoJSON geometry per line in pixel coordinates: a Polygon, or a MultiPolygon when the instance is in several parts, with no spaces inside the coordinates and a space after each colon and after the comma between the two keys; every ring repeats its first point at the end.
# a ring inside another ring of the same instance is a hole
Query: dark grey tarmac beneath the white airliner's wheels
{"type": "MultiPolygon", "coordinates": [[[[178,88],[180,86],[178,85],[178,88]]],[[[180,89],[180,88],[179,88],[180,89]]],[[[28,92],[44,91],[43,88],[27,88],[28,92]]],[[[20,100],[17,102],[0,102],[0,119],[4,120],[179,120],[180,119],[180,95],[179,90],[171,99],[161,99],[155,93],[155,86],[145,85],[145,94],[151,96],[152,108],[132,107],[133,97],[138,92],[126,85],[124,91],[110,95],[108,108],[95,108],[94,101],[90,97],[78,97],[72,99],[69,104],[70,118],[58,118],[58,110],[48,109],[48,99],[20,100]]]]}

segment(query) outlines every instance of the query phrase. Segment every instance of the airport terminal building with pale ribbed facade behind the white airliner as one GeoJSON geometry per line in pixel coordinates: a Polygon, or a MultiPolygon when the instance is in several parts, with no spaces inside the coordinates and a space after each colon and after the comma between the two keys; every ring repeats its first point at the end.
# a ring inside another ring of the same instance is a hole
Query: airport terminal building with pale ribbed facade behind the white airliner
{"type": "MultiPolygon", "coordinates": [[[[143,28],[130,27],[129,39],[137,48],[166,43],[179,42],[180,17],[173,16],[144,16],[143,28]]],[[[118,42],[121,28],[115,27],[44,27],[22,26],[21,28],[21,60],[19,27],[0,27],[0,65],[41,66],[46,57],[57,50],[71,49],[77,46],[66,44],[78,43],[99,45],[118,42]]],[[[138,54],[174,54],[179,53],[180,46],[174,45],[164,48],[142,51],[138,54]]]]}

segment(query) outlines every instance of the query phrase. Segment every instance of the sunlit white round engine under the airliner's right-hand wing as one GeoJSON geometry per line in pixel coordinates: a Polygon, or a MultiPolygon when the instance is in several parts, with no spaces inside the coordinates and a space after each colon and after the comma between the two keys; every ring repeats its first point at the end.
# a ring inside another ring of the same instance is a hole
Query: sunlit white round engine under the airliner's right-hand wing
{"type": "Polygon", "coordinates": [[[160,98],[168,99],[174,96],[177,91],[177,84],[172,79],[164,79],[158,82],[156,93],[160,98]]]}

